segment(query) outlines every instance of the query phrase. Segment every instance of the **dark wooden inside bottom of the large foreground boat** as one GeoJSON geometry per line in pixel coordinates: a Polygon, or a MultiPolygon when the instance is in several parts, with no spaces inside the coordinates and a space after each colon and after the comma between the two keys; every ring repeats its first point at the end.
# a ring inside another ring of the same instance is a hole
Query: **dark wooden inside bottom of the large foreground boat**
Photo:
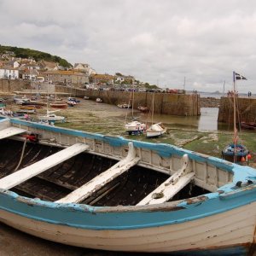
{"type": "MultiPolygon", "coordinates": [[[[131,167],[124,165],[125,172],[119,172],[114,177],[105,177],[108,182],[104,183],[105,172],[111,171],[113,166],[115,166],[115,169],[120,169],[124,166],[120,165],[118,160],[90,154],[86,150],[82,153],[78,151],[76,155],[67,160],[61,160],[57,165],[49,168],[45,167],[44,172],[38,172],[37,175],[24,178],[24,180],[20,179],[20,176],[23,176],[21,173],[23,170],[25,172],[25,169],[29,168],[29,166],[34,166],[34,169],[40,169],[41,166],[44,166],[44,160],[47,161],[51,155],[53,158],[57,158],[56,154],[61,154],[61,150],[63,151],[63,148],[39,143],[9,138],[1,139],[0,187],[28,198],[68,202],[65,199],[69,195],[75,194],[76,190],[83,189],[84,184],[85,186],[87,184],[86,188],[84,188],[89,190],[86,192],[87,194],[85,193],[86,196],[70,200],[97,207],[113,207],[147,204],[147,201],[145,202],[147,196],[150,198],[161,197],[159,192],[152,194],[153,191],[160,188],[160,185],[165,187],[166,181],[170,183],[170,174],[138,166],[136,162],[131,167]],[[36,166],[37,164],[40,167],[36,166]],[[17,172],[17,177],[12,177],[15,172],[17,172]],[[10,183],[15,179],[18,179],[18,181],[9,185],[9,187],[4,187],[7,183],[7,181],[4,181],[5,178],[9,178],[10,183]],[[1,186],[1,180],[3,181],[3,186],[1,186]],[[88,185],[90,183],[94,183],[92,187],[88,185]],[[102,183],[102,185],[99,186],[97,183],[102,183]]],[[[178,192],[172,196],[170,195],[165,201],[182,200],[209,192],[207,189],[196,185],[191,177],[191,175],[187,177],[187,182],[183,184],[183,187],[177,189],[178,192]]]]}

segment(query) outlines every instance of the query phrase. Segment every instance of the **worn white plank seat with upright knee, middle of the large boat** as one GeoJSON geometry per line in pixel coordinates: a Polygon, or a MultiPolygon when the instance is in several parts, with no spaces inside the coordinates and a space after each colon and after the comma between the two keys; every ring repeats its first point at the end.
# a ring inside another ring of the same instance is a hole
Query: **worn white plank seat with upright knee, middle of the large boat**
{"type": "Polygon", "coordinates": [[[96,192],[96,190],[101,189],[105,184],[112,181],[115,177],[118,177],[122,173],[128,171],[131,166],[135,166],[140,158],[136,157],[136,150],[133,147],[133,144],[128,143],[128,146],[129,151],[125,159],[120,160],[107,171],[102,172],[100,175],[91,179],[88,183],[85,183],[79,189],[74,190],[72,193],[56,202],[79,203],[80,201],[84,201],[84,199],[88,198],[90,195],[96,192]]]}

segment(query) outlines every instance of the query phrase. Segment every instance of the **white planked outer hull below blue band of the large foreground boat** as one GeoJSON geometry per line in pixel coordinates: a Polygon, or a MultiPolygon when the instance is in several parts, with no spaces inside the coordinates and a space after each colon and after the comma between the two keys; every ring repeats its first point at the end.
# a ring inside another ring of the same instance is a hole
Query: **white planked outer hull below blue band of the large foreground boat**
{"type": "Polygon", "coordinates": [[[73,246],[163,253],[253,243],[255,212],[256,203],[253,203],[182,224],[134,230],[82,230],[32,220],[3,210],[0,211],[0,220],[33,236],[73,246]]]}

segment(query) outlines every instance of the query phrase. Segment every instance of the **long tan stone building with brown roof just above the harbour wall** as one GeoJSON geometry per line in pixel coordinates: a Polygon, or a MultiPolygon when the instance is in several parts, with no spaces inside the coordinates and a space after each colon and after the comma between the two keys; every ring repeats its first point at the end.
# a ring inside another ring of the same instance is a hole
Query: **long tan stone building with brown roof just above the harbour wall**
{"type": "Polygon", "coordinates": [[[46,71],[40,73],[44,80],[52,84],[77,84],[84,85],[89,83],[89,76],[85,73],[79,73],[72,70],[68,71],[46,71]]]}

